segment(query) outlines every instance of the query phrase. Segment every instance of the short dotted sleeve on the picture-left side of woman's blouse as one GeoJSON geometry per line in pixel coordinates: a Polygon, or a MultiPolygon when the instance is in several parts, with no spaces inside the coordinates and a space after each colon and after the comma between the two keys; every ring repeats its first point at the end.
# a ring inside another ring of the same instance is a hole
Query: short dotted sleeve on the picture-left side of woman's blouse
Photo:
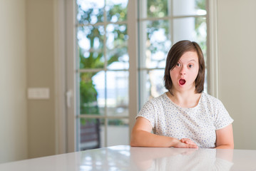
{"type": "Polygon", "coordinates": [[[143,117],[149,120],[149,122],[154,128],[155,127],[155,110],[154,110],[153,103],[150,103],[150,101],[145,103],[145,105],[143,105],[143,108],[140,110],[140,112],[136,116],[136,118],[138,117],[143,117]]]}

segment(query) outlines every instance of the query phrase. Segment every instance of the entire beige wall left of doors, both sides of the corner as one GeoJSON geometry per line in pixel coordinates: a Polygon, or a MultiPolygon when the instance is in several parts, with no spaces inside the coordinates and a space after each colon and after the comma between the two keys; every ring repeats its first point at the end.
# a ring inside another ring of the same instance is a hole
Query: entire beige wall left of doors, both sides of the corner
{"type": "Polygon", "coordinates": [[[56,154],[53,0],[0,0],[0,163],[56,154]],[[49,88],[28,100],[27,88],[49,88]]]}

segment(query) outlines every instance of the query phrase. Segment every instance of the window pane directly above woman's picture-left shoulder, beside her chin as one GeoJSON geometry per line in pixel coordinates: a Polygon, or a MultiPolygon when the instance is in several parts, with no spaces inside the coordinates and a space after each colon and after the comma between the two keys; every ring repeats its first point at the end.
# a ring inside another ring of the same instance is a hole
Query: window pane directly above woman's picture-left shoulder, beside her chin
{"type": "Polygon", "coordinates": [[[164,73],[164,69],[140,71],[140,108],[150,98],[156,98],[167,91],[163,81],[164,73]]]}

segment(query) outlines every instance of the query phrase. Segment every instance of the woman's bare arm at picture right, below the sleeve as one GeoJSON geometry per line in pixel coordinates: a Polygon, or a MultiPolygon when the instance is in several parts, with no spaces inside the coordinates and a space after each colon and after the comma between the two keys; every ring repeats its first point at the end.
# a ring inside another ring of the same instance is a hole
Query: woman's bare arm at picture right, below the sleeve
{"type": "Polygon", "coordinates": [[[232,124],[216,130],[216,147],[222,149],[234,149],[232,124]]]}

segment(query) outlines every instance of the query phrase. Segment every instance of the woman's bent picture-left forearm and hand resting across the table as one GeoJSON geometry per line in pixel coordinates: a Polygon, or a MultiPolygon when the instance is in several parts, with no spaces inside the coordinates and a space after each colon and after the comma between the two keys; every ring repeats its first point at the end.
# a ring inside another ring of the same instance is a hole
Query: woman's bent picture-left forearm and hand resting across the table
{"type": "Polygon", "coordinates": [[[198,147],[194,142],[181,142],[177,138],[165,137],[150,133],[152,125],[142,117],[138,117],[133,127],[130,146],[136,147],[198,147]]]}

